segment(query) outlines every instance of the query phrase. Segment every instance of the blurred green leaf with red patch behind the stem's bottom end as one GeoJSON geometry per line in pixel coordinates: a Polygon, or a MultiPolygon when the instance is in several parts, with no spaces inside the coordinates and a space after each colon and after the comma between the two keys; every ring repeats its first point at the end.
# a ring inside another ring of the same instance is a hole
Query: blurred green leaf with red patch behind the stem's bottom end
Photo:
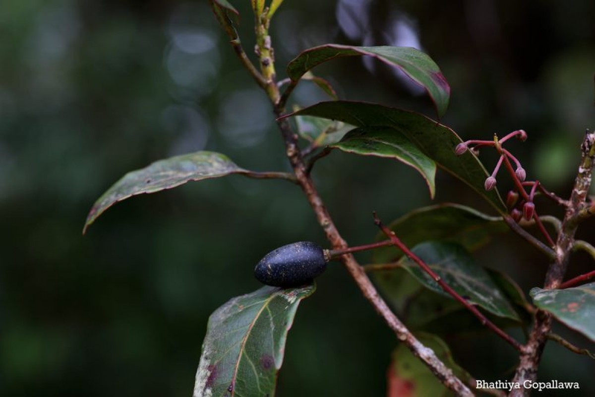
{"type": "MultiPolygon", "coordinates": [[[[416,336],[419,342],[434,351],[434,354],[453,371],[456,377],[464,381],[471,379],[471,376],[453,360],[448,345],[442,339],[427,333],[419,333],[416,336]]],[[[390,397],[446,397],[453,395],[403,343],[400,343],[393,352],[387,377],[387,395],[390,397]]]]}

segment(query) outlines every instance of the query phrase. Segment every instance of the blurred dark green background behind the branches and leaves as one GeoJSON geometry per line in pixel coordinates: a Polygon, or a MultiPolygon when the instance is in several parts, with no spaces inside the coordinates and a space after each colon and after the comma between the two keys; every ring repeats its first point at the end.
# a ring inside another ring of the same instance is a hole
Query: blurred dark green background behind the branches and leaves
{"type": "MultiPolygon", "coordinates": [[[[232,3],[250,49],[249,2],[232,3]]],[[[443,123],[464,139],[527,130],[510,148],[528,177],[568,195],[581,137],[595,127],[595,2],[285,3],[271,27],[280,78],[299,51],[326,42],[421,45],[452,86],[443,123]]],[[[343,98],[434,117],[423,92],[385,65],[347,58],[317,73],[343,98]]],[[[303,83],[295,99],[325,97],[303,83]]],[[[253,267],[271,249],[325,245],[297,187],[239,176],[139,196],[81,235],[95,199],[124,173],[202,149],[288,170],[267,98],[205,1],[0,1],[0,395],[189,396],[208,315],[259,287],[253,267]]],[[[421,178],[389,160],[337,152],[314,176],[352,244],[374,239],[371,211],[390,221],[432,203],[421,178]]],[[[507,183],[502,175],[502,192],[507,183]]],[[[437,192],[434,202],[487,209],[443,173],[437,192]]],[[[560,214],[548,205],[539,201],[540,212],[560,214]]],[[[593,231],[591,222],[581,233],[593,231]]],[[[499,237],[478,258],[525,291],[543,283],[544,257],[518,237],[499,237]]],[[[587,255],[574,259],[571,275],[593,268],[587,255]]],[[[297,313],[278,395],[383,395],[396,339],[340,265],[330,267],[297,313]]],[[[511,376],[515,354],[501,340],[449,342],[478,379],[511,376]]],[[[550,344],[540,379],[581,382],[572,395],[594,395],[594,371],[593,360],[550,344]]]]}

